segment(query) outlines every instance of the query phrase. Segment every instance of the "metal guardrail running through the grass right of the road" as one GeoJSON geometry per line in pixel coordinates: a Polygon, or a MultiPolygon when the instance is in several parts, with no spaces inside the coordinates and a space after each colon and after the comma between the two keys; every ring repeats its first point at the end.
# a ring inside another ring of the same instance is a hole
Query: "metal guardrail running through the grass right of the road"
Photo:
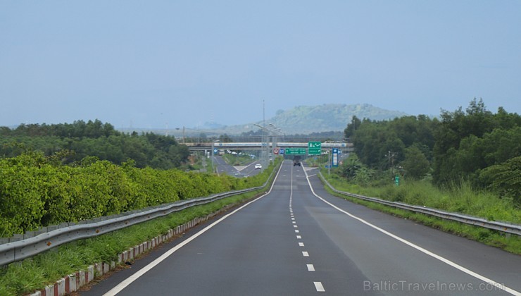
{"type": "Polygon", "coordinates": [[[489,228],[492,230],[498,230],[503,233],[510,233],[514,235],[521,235],[521,226],[517,224],[509,224],[509,223],[502,223],[502,222],[496,222],[496,221],[488,221],[484,218],[477,218],[474,216],[467,216],[463,214],[457,214],[457,213],[451,213],[447,211],[440,211],[438,209],[431,209],[427,208],[425,206],[411,206],[410,204],[403,204],[401,202],[389,202],[384,199],[378,199],[375,197],[365,197],[363,195],[355,195],[353,193],[344,192],[337,190],[334,188],[327,180],[324,178],[324,175],[322,175],[322,172],[319,172],[320,178],[322,179],[322,182],[324,182],[331,190],[334,192],[337,192],[341,195],[347,195],[349,197],[356,197],[358,199],[367,200],[369,202],[376,202],[378,204],[385,204],[387,206],[394,206],[399,209],[406,209],[408,211],[414,211],[416,213],[422,213],[427,214],[430,216],[437,216],[439,218],[444,218],[448,220],[458,221],[461,223],[470,224],[473,226],[479,226],[483,228],[489,228]]]}

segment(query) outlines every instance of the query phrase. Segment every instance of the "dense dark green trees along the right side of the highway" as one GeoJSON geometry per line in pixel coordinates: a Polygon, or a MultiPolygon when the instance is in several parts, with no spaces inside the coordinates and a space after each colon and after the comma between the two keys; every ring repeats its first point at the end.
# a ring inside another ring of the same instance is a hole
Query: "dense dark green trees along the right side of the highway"
{"type": "Polygon", "coordinates": [[[394,175],[432,180],[448,187],[461,180],[521,204],[521,116],[482,100],[465,112],[443,111],[441,119],[405,116],[391,121],[353,118],[344,130],[356,147],[356,158],[339,173],[353,182],[388,184],[394,175]]]}

